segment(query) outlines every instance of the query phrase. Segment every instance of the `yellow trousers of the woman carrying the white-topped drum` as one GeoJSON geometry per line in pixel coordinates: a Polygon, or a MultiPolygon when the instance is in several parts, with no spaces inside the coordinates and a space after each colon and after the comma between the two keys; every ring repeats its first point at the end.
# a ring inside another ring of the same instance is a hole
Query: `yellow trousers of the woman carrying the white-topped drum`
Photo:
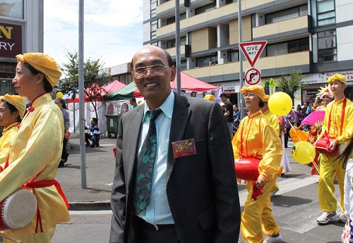
{"type": "MultiPolygon", "coordinates": [[[[3,234],[13,239],[20,240],[22,243],[51,243],[54,236],[56,226],[49,228],[46,232],[38,232],[37,234],[19,234],[16,230],[7,230],[3,234]]],[[[13,241],[4,239],[4,243],[13,243],[13,241]]]]}

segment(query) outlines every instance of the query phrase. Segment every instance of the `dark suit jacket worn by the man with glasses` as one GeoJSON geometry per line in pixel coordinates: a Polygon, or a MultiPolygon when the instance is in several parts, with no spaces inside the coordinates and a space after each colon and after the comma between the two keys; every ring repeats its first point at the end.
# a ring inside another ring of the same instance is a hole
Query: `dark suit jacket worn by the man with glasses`
{"type": "MultiPolygon", "coordinates": [[[[134,108],[119,122],[110,242],[135,242],[131,218],[143,108],[134,108]]],[[[217,103],[175,94],[166,175],[167,199],[181,243],[238,242],[233,150],[217,103]],[[191,138],[197,154],[174,158],[171,143],[191,138]]]]}

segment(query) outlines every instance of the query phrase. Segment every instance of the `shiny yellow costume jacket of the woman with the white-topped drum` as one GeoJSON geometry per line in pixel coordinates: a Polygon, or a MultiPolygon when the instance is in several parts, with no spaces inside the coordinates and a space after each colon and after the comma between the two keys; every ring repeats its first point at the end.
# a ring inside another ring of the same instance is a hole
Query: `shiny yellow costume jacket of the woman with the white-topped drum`
{"type": "MultiPolygon", "coordinates": [[[[11,140],[9,166],[0,173],[0,201],[38,175],[35,182],[54,180],[64,139],[64,120],[60,108],[44,94],[32,104],[23,118],[16,139],[11,140]],[[33,109],[34,108],[34,109],[33,109]]],[[[33,189],[42,217],[44,232],[57,223],[70,220],[68,209],[56,187],[33,189]]],[[[25,228],[16,230],[34,234],[36,216],[25,228]]]]}

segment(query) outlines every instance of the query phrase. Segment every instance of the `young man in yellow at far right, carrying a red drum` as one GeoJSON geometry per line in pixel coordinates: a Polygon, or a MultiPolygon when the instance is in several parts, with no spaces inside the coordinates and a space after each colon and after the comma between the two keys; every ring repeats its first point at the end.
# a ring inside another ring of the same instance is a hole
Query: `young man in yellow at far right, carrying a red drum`
{"type": "MultiPolygon", "coordinates": [[[[335,100],[326,106],[322,132],[321,135],[318,136],[318,139],[321,139],[325,133],[330,137],[335,137],[329,145],[329,149],[333,150],[339,144],[345,144],[353,134],[353,127],[352,125],[349,125],[349,121],[352,121],[353,119],[353,104],[352,101],[345,97],[344,91],[347,87],[347,80],[344,75],[335,74],[328,78],[328,83],[330,84],[330,89],[333,92],[335,100]]],[[[333,182],[335,180],[335,175],[337,176],[338,185],[340,187],[340,205],[343,208],[343,182],[345,170],[342,169],[339,161],[335,160],[336,158],[337,156],[328,156],[325,154],[322,154],[321,156],[320,178],[318,181],[318,202],[323,213],[317,219],[318,223],[321,224],[328,223],[330,220],[335,220],[337,218],[342,222],[347,220],[345,214],[342,213],[340,216],[337,215],[337,202],[330,194],[325,182],[323,182],[323,178],[325,178],[330,189],[335,192],[333,182]]]]}

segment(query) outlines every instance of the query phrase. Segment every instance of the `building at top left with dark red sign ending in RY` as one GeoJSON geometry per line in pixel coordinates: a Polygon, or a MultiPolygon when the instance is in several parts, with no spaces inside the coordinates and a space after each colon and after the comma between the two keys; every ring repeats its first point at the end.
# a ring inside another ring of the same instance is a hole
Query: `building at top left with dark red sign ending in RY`
{"type": "Polygon", "coordinates": [[[43,52],[43,0],[0,4],[0,94],[13,94],[16,55],[43,52]]]}

